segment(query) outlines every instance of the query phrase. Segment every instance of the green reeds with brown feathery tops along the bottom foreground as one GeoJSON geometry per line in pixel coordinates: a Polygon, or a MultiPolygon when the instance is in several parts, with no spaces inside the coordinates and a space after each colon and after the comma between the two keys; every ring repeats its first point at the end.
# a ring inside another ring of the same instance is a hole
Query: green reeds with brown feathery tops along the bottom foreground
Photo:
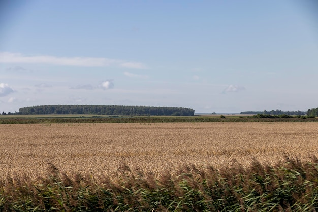
{"type": "Polygon", "coordinates": [[[125,164],[118,180],[108,176],[70,178],[49,164],[37,182],[7,176],[0,181],[1,211],[315,211],[318,159],[287,158],[276,166],[180,168],[177,176],[132,174],[125,164]]]}

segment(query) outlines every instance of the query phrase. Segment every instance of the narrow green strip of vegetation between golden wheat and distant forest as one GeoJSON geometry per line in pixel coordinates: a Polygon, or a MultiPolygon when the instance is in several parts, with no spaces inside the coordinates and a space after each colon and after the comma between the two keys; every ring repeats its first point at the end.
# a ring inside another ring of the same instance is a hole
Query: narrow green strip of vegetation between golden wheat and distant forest
{"type": "Polygon", "coordinates": [[[53,123],[167,123],[167,122],[318,122],[305,116],[262,115],[238,116],[96,116],[96,115],[6,115],[0,124],[53,124],[53,123]]]}

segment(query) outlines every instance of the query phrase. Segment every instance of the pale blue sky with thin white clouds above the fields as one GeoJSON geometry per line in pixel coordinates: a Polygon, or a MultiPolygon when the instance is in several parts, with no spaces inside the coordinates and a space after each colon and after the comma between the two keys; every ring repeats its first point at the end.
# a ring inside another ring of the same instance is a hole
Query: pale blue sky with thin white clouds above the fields
{"type": "Polygon", "coordinates": [[[318,107],[318,1],[0,1],[0,111],[318,107]]]}

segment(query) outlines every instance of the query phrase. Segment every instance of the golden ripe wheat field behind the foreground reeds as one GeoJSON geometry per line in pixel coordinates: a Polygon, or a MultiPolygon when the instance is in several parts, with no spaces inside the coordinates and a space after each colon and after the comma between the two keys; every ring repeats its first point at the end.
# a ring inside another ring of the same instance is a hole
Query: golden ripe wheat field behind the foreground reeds
{"type": "Polygon", "coordinates": [[[158,176],[182,165],[217,169],[286,155],[318,157],[318,123],[102,123],[0,125],[0,178],[67,174],[158,176]],[[128,168],[129,167],[129,168],[128,168]]]}

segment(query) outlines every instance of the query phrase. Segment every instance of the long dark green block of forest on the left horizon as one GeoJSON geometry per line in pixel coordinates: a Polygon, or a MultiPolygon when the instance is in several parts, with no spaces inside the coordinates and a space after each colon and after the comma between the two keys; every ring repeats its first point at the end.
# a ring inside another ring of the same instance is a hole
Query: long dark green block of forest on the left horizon
{"type": "Polygon", "coordinates": [[[20,108],[15,114],[97,114],[122,116],[194,116],[191,108],[117,105],[42,105],[20,108]]]}

